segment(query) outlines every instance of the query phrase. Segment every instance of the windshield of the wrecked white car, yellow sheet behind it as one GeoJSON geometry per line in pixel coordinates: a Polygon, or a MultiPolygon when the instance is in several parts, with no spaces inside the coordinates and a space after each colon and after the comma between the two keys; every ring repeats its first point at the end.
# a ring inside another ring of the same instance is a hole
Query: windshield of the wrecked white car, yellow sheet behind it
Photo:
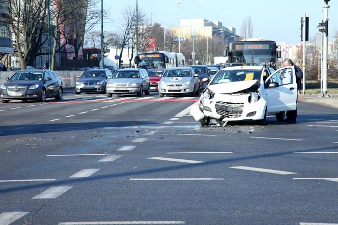
{"type": "Polygon", "coordinates": [[[215,75],[210,85],[243,80],[260,80],[261,74],[261,70],[221,70],[215,75]]]}

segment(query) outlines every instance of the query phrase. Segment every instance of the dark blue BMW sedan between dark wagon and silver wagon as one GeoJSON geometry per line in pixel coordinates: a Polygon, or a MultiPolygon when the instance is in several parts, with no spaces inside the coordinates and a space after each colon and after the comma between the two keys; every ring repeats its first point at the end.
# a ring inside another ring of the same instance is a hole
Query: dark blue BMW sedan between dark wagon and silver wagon
{"type": "Polygon", "coordinates": [[[106,82],[108,76],[111,77],[111,72],[108,69],[91,69],[86,70],[75,82],[75,94],[81,92],[100,92],[105,93],[106,82]]]}

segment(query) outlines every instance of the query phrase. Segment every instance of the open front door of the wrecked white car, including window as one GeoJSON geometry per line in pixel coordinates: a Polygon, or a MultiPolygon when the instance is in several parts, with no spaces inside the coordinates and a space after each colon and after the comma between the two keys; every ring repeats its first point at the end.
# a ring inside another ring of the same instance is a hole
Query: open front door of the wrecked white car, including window
{"type": "Polygon", "coordinates": [[[295,80],[295,70],[293,67],[278,69],[266,79],[264,95],[267,100],[268,113],[296,109],[297,84],[295,80]],[[285,79],[287,75],[291,75],[291,78],[288,78],[289,80],[285,79]],[[269,88],[271,82],[277,82],[278,87],[269,88]]]}

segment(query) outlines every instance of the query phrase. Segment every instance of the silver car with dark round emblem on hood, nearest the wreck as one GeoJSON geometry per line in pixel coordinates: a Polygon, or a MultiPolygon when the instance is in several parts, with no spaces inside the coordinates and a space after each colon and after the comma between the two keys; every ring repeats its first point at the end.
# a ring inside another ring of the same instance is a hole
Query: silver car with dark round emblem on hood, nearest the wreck
{"type": "Polygon", "coordinates": [[[199,74],[191,67],[172,67],[165,71],[158,83],[158,95],[168,94],[195,96],[200,94],[199,74]]]}

